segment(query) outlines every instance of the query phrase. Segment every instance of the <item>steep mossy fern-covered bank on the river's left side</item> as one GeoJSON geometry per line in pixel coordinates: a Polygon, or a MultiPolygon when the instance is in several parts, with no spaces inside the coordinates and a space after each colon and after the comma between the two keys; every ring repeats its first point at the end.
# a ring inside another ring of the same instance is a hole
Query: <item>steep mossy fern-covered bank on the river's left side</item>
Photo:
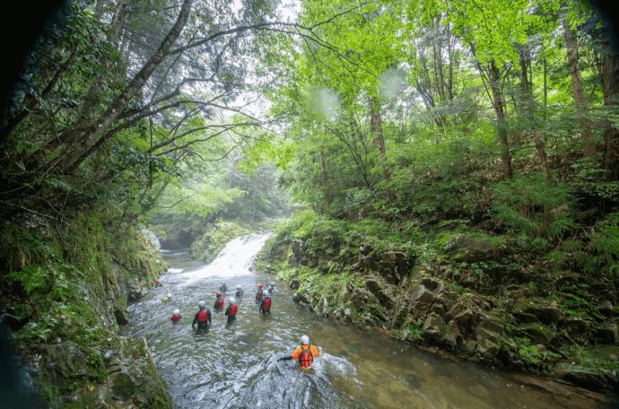
{"type": "Polygon", "coordinates": [[[120,336],[126,305],[164,271],[137,230],[107,231],[92,215],[62,229],[5,223],[0,311],[52,407],[171,407],[144,338],[120,336]],[[28,226],[22,227],[22,226],[28,226]]]}

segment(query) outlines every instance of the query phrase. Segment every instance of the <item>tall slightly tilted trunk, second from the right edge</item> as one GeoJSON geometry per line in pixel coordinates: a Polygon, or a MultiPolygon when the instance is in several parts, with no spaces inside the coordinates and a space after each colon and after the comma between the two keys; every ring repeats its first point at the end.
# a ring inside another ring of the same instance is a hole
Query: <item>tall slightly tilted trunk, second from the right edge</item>
{"type": "Polygon", "coordinates": [[[585,90],[582,86],[582,77],[580,76],[578,42],[576,33],[571,30],[570,23],[566,19],[563,20],[563,39],[565,39],[568,65],[570,67],[571,91],[574,96],[574,105],[576,106],[576,112],[579,117],[582,153],[587,158],[595,158],[597,157],[597,149],[595,141],[593,140],[591,123],[587,116],[587,100],[585,99],[585,90]]]}

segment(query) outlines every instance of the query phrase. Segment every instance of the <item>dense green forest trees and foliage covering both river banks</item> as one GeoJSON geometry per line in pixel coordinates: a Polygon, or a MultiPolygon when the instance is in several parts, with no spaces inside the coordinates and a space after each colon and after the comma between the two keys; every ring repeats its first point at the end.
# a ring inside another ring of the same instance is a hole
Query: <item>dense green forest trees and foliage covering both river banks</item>
{"type": "Polygon", "coordinates": [[[450,302],[492,307],[506,336],[478,341],[522,369],[616,335],[619,51],[606,21],[568,0],[278,5],[74,2],[22,75],[0,122],[0,307],[31,356],[57,339],[88,356],[49,399],[104,378],[96,345],[117,328],[88,300],[124,310],[110,289],[153,278],[140,227],[210,259],[285,216],[284,190],[309,211],[264,266],[321,308],[415,340],[432,322],[404,300],[429,274],[450,302]],[[510,318],[531,315],[522,298],[586,335],[510,318]],[[551,334],[547,350],[535,343],[551,334]]]}

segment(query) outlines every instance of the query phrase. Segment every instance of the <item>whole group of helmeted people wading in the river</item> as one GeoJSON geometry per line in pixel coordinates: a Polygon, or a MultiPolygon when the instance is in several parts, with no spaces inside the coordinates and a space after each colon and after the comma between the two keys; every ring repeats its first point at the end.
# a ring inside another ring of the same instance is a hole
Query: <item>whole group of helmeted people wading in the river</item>
{"type": "MultiPolygon", "coordinates": [[[[163,284],[160,280],[155,281],[155,287],[161,287],[163,284]]],[[[225,306],[225,300],[223,298],[223,294],[228,292],[228,286],[226,283],[222,283],[219,287],[219,291],[215,292],[215,300],[213,304],[213,309],[217,311],[221,311],[225,306]]],[[[257,292],[255,294],[256,303],[258,304],[258,312],[260,312],[263,316],[271,314],[271,295],[275,292],[275,283],[271,282],[266,288],[262,283],[257,284],[257,292]]],[[[234,296],[236,299],[242,299],[243,297],[243,289],[240,285],[237,285],[236,292],[234,296]]],[[[239,311],[239,307],[237,306],[235,298],[228,299],[228,307],[225,309],[224,315],[227,317],[227,324],[233,323],[237,318],[237,312],[239,311]]],[[[163,298],[161,298],[161,302],[169,302],[172,300],[172,294],[168,293],[163,298]]],[[[180,314],[179,309],[174,309],[172,312],[172,317],[170,318],[172,323],[176,324],[183,318],[180,314]]],[[[191,324],[193,329],[198,331],[207,331],[213,323],[213,313],[206,305],[204,300],[198,302],[198,310],[194,315],[194,320],[191,324]]],[[[309,344],[309,336],[302,335],[301,336],[301,346],[299,346],[292,354],[284,355],[277,359],[277,361],[290,361],[295,360],[299,361],[302,370],[309,370],[309,367],[314,361],[314,357],[318,356],[320,352],[318,348],[314,345],[309,344]]]]}

